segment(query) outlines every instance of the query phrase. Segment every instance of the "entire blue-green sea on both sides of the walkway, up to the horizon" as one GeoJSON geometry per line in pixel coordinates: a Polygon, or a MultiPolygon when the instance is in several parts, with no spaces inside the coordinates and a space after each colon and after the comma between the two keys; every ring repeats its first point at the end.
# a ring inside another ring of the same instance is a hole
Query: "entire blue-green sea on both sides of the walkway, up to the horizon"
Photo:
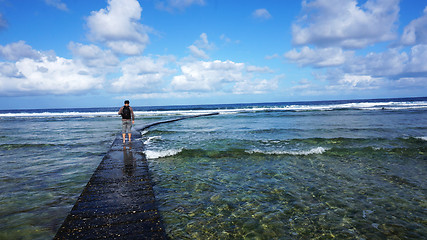
{"type": "MultiPolygon", "coordinates": [[[[114,108],[0,110],[0,239],[51,239],[114,108]]],[[[427,98],[134,107],[171,239],[426,239],[427,98]]]]}

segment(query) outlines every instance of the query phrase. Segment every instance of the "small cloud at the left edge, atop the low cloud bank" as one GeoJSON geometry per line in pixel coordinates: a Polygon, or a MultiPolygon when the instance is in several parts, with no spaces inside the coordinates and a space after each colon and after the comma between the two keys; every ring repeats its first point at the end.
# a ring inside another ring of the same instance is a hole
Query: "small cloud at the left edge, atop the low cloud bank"
{"type": "Polygon", "coordinates": [[[24,41],[0,45],[0,57],[8,61],[18,61],[23,58],[39,59],[41,54],[27,45],[24,41]]]}

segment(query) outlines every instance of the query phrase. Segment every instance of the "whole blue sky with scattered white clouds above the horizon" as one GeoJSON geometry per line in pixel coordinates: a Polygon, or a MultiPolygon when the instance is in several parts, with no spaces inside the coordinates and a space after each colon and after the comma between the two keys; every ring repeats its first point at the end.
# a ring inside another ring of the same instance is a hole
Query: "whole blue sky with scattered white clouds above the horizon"
{"type": "Polygon", "coordinates": [[[0,0],[0,109],[427,96],[424,0],[0,0]]]}

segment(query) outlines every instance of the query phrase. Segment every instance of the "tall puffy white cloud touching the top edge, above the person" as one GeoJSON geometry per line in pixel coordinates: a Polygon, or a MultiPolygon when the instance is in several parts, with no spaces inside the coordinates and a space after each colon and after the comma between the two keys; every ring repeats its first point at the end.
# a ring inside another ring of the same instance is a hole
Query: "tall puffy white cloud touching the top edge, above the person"
{"type": "Polygon", "coordinates": [[[87,18],[90,40],[105,44],[116,53],[141,54],[151,29],[139,23],[142,8],[137,0],[108,0],[108,7],[87,18]]]}

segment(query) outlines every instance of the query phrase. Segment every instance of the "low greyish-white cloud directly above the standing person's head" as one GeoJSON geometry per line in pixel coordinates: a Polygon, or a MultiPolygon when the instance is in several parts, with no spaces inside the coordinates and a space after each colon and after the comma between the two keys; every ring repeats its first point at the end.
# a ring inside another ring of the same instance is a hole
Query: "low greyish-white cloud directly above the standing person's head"
{"type": "Polygon", "coordinates": [[[112,84],[112,91],[162,91],[165,78],[174,73],[167,67],[173,57],[131,57],[121,63],[122,76],[112,84]]]}

